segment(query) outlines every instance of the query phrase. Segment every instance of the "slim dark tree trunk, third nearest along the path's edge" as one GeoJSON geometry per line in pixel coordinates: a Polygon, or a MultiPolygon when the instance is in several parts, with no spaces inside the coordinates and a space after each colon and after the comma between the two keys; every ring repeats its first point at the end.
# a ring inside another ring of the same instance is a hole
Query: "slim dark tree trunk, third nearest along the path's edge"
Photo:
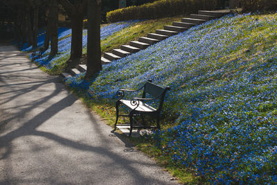
{"type": "Polygon", "coordinates": [[[50,7],[49,7],[49,32],[51,38],[51,56],[55,56],[57,54],[57,17],[58,17],[58,10],[57,10],[57,1],[51,0],[50,7]]]}

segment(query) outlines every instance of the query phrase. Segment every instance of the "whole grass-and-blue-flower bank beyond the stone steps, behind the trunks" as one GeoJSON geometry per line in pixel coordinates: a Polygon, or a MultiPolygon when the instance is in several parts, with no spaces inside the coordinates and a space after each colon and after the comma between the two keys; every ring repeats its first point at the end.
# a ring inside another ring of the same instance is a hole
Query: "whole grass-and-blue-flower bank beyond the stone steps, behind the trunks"
{"type": "MultiPolygon", "coordinates": [[[[122,44],[129,41],[137,40],[143,37],[148,32],[154,32],[157,29],[163,28],[163,25],[171,24],[172,21],[180,20],[180,17],[170,17],[157,20],[135,20],[135,21],[120,21],[118,23],[110,23],[101,26],[101,51],[107,52],[114,48],[119,48],[122,44]]],[[[38,47],[44,45],[44,30],[40,31],[38,37],[38,47]]],[[[42,58],[35,59],[35,63],[42,70],[52,74],[60,74],[65,66],[65,62],[70,57],[71,49],[71,29],[60,28],[58,35],[58,53],[54,58],[49,58],[50,48],[44,52],[42,58]]],[[[87,30],[83,30],[83,54],[87,54],[87,30]]],[[[23,51],[30,51],[32,47],[28,47],[27,43],[21,48],[23,51]]]]}

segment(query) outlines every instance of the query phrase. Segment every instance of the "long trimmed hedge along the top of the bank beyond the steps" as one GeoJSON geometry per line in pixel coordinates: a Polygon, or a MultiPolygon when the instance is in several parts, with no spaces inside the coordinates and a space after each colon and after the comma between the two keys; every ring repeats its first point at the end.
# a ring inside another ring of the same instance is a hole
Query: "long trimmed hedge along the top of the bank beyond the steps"
{"type": "Polygon", "coordinates": [[[213,10],[216,6],[217,0],[160,0],[107,12],[107,21],[157,19],[195,12],[200,9],[213,10]]]}

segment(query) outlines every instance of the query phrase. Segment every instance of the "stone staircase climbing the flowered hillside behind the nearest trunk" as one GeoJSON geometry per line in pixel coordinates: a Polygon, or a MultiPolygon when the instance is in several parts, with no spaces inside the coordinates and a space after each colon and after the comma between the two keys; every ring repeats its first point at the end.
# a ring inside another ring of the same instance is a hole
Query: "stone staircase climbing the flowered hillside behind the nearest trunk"
{"type": "MultiPolygon", "coordinates": [[[[172,26],[163,26],[163,30],[156,30],[155,33],[148,33],[147,37],[139,37],[138,41],[130,41],[129,45],[122,45],[118,49],[114,49],[111,52],[104,52],[101,57],[101,63],[109,64],[116,59],[121,59],[127,55],[131,55],[139,50],[144,50],[148,46],[167,39],[172,35],[176,35],[179,32],[184,32],[189,28],[209,21],[211,19],[216,19],[224,16],[224,14],[229,14],[230,10],[216,10],[216,11],[206,11],[199,10],[198,14],[190,14],[188,18],[182,18],[180,22],[173,22],[172,26]]],[[[77,68],[73,68],[70,74],[67,72],[62,72],[64,77],[70,77],[71,75],[77,75],[80,72],[87,70],[86,65],[78,65],[77,68]]]]}

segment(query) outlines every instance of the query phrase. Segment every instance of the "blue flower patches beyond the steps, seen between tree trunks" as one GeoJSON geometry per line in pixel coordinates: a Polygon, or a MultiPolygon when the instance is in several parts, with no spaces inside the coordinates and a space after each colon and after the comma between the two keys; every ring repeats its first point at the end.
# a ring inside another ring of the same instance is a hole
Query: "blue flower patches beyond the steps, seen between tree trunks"
{"type": "MultiPolygon", "coordinates": [[[[101,39],[105,39],[114,33],[123,30],[124,28],[127,28],[129,26],[132,26],[134,23],[138,22],[136,21],[120,21],[118,23],[111,23],[105,26],[101,26],[100,30],[100,37],[101,39]]],[[[41,30],[39,32],[38,36],[38,47],[42,47],[44,45],[44,30],[41,30]]],[[[70,57],[70,50],[71,50],[71,29],[69,28],[59,28],[58,30],[58,51],[57,55],[53,58],[49,58],[51,47],[48,48],[48,50],[44,51],[44,54],[41,58],[35,59],[35,63],[39,66],[44,66],[46,69],[51,70],[55,67],[63,65],[70,57]]],[[[83,37],[82,37],[82,46],[84,53],[86,52],[87,47],[87,30],[83,30],[83,37]]],[[[26,46],[26,43],[24,44],[24,48],[22,48],[24,51],[32,50],[32,47],[26,46]]]]}

